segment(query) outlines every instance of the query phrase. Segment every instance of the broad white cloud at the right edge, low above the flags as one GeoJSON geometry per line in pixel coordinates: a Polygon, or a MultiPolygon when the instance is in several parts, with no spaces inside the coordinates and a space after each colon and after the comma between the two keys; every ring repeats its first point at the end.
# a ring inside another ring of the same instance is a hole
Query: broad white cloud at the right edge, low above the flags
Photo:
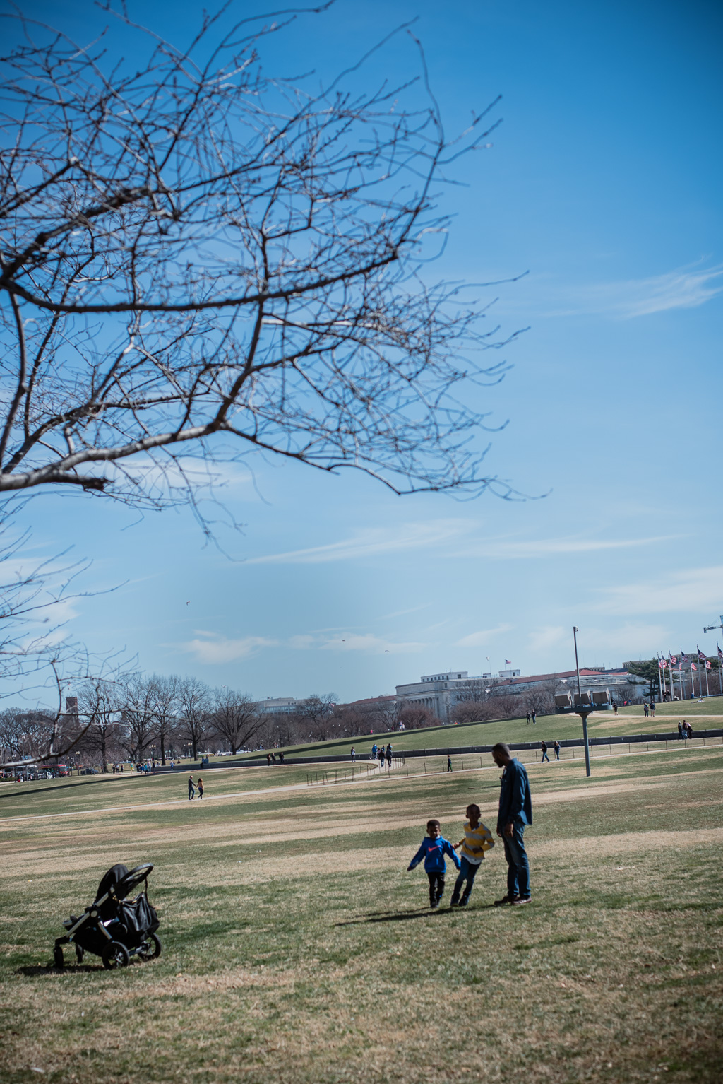
{"type": "MultiPolygon", "coordinates": [[[[659,580],[603,589],[604,614],[667,614],[695,610],[715,616],[723,605],[723,565],[671,572],[659,580]]],[[[701,619],[702,620],[702,619],[701,619]]]]}

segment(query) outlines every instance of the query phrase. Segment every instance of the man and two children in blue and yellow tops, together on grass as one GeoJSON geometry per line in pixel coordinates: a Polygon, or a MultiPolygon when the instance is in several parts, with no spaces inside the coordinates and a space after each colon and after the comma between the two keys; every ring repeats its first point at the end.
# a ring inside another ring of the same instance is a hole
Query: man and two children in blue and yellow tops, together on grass
{"type": "MultiPolygon", "coordinates": [[[[529,861],[524,843],[525,826],[533,823],[529,780],[524,764],[511,756],[505,743],[498,741],[492,748],[492,760],[502,769],[497,835],[504,846],[508,864],[508,890],[505,895],[495,901],[495,906],[520,906],[531,900],[529,861]]],[[[415,869],[420,862],[424,862],[424,872],[430,882],[430,907],[433,911],[439,906],[445,891],[445,855],[451,859],[459,870],[449,906],[465,907],[485,852],[495,846],[492,834],[481,821],[479,806],[474,803],[468,805],[465,815],[464,838],[453,846],[443,837],[442,825],[436,818],[428,821],[426,836],[407,866],[407,869],[415,869]],[[459,859],[456,853],[458,850],[461,855],[459,859]]]]}

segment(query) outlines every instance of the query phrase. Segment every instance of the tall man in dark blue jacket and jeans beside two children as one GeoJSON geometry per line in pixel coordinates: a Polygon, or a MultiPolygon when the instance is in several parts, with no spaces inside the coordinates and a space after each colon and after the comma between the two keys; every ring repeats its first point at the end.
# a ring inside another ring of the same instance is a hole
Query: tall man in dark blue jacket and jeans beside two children
{"type": "Polygon", "coordinates": [[[492,760],[503,769],[500,785],[500,805],[497,814],[497,835],[504,843],[508,862],[508,894],[495,901],[496,907],[505,904],[520,906],[529,903],[529,862],[523,837],[525,825],[533,823],[533,803],[529,780],[524,764],[510,756],[510,747],[498,741],[492,749],[492,760]]]}

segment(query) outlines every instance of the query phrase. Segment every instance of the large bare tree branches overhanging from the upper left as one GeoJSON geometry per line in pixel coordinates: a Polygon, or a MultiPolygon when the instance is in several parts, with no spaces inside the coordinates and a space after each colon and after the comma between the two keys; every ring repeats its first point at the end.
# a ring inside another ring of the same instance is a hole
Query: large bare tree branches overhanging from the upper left
{"type": "Polygon", "coordinates": [[[103,36],[5,16],[0,491],[157,507],[194,489],[187,454],[262,451],[396,492],[509,492],[464,395],[504,371],[481,364],[497,328],[418,273],[489,111],[449,140],[424,78],[293,87],[260,54],[284,21],[227,12],[190,54],[120,13],[137,41],[115,66],[103,36]]]}

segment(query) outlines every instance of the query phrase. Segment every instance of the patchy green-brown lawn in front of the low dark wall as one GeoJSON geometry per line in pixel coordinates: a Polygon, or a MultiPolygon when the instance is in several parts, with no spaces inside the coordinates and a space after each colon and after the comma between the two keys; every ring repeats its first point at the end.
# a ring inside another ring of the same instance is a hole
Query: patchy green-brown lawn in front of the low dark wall
{"type": "Polygon", "coordinates": [[[202,802],[172,776],[5,785],[0,1079],[720,1084],[722,770],[720,746],[533,764],[534,901],[490,906],[497,847],[464,912],[406,865],[430,816],[456,841],[477,801],[494,827],[494,767],[218,770],[202,802]],[[142,861],[160,959],[50,968],[62,919],[142,861]]]}

